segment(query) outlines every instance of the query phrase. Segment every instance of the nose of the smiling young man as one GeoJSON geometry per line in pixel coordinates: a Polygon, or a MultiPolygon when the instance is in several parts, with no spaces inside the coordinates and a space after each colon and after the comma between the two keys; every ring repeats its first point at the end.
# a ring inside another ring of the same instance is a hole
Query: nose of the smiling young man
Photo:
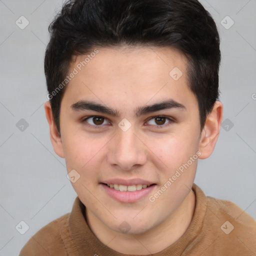
{"type": "Polygon", "coordinates": [[[146,146],[132,127],[127,131],[117,128],[108,149],[108,163],[122,170],[136,169],[145,164],[147,159],[146,146]]]}

